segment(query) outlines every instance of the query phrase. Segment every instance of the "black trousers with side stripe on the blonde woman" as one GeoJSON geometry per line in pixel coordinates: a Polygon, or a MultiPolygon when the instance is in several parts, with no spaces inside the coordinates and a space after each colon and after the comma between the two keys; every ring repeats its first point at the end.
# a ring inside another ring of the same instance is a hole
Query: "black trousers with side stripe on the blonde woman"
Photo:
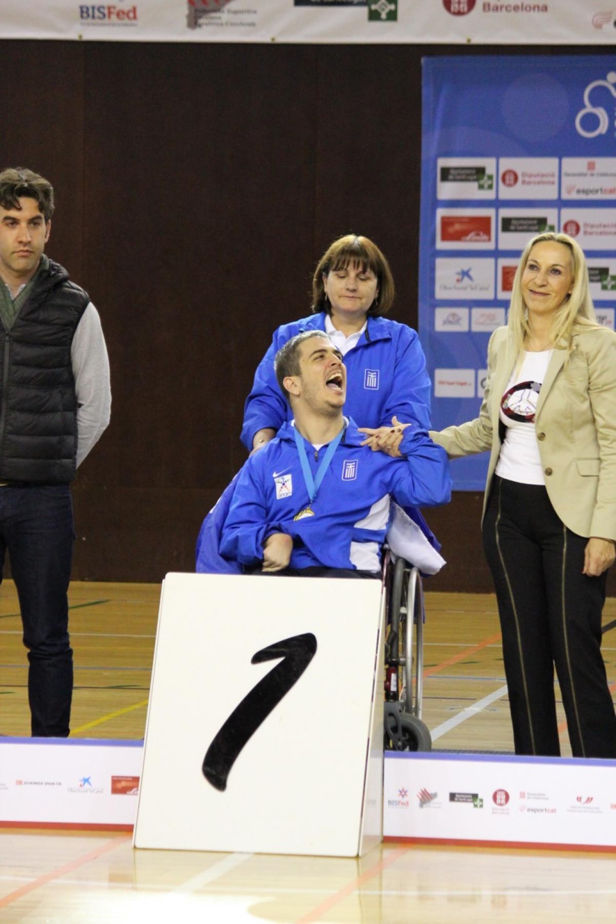
{"type": "Polygon", "coordinates": [[[575,757],[616,758],[601,656],[607,573],[582,574],[586,542],[542,485],[494,477],[483,523],[499,606],[516,754],[558,756],[554,666],[575,757]]]}

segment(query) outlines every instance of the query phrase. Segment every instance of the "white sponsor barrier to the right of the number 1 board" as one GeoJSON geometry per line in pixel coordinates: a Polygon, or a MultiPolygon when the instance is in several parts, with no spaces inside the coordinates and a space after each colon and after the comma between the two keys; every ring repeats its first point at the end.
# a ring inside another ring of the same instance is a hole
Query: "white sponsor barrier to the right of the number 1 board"
{"type": "Polygon", "coordinates": [[[393,841],[616,851],[616,760],[388,753],[383,815],[393,841]]]}

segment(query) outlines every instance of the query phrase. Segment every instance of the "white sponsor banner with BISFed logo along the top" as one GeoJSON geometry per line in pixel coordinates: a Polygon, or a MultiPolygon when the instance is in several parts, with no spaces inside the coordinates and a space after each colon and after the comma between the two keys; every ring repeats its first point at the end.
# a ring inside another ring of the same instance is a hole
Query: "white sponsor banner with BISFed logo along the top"
{"type": "Polygon", "coordinates": [[[616,0],[2,0],[0,38],[609,46],[616,0]]]}

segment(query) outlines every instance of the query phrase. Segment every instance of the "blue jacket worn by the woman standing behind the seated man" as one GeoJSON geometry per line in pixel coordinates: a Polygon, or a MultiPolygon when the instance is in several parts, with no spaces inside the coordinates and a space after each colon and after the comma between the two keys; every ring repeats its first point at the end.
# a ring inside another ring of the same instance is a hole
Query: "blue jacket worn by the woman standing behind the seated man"
{"type": "MultiPolygon", "coordinates": [[[[244,406],[241,439],[249,450],[258,430],[272,427],[277,431],[292,418],[276,382],[273,359],[287,340],[309,330],[325,330],[324,312],[283,324],[274,333],[244,406]]],[[[395,414],[403,423],[429,430],[430,381],[416,331],[388,318],[368,318],[366,330],[344,357],[344,365],[344,414],[356,420],[357,426],[391,426],[395,414]]]]}

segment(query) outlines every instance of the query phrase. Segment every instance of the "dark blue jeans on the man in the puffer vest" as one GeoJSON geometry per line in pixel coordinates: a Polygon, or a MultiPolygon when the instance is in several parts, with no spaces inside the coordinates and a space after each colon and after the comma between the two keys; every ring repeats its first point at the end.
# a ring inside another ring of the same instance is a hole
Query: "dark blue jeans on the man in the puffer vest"
{"type": "Polygon", "coordinates": [[[33,736],[68,736],[73,652],[66,591],[74,539],[68,485],[0,487],[0,565],[8,549],[30,662],[33,736]]]}

